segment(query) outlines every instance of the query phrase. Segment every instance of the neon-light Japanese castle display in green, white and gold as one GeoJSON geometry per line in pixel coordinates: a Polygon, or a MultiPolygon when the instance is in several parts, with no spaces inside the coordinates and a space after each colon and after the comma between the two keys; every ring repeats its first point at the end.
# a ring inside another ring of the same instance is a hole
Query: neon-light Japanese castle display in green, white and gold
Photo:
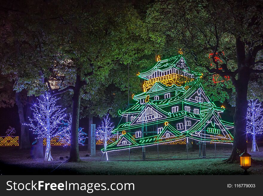
{"type": "Polygon", "coordinates": [[[233,123],[222,121],[224,107],[216,107],[200,83],[202,74],[189,69],[182,55],[158,61],[145,79],[144,92],[133,96],[136,104],[119,114],[114,134],[119,139],[102,149],[111,152],[193,139],[208,143],[233,143],[233,123]]]}

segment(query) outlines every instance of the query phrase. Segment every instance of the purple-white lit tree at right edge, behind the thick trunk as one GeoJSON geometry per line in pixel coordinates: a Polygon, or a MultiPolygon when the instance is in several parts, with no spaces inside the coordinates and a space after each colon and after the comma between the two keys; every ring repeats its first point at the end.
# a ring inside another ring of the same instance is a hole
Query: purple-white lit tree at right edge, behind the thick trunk
{"type": "Polygon", "coordinates": [[[258,100],[249,100],[247,107],[247,133],[253,136],[251,152],[256,152],[256,135],[262,134],[262,115],[261,103],[258,100]]]}

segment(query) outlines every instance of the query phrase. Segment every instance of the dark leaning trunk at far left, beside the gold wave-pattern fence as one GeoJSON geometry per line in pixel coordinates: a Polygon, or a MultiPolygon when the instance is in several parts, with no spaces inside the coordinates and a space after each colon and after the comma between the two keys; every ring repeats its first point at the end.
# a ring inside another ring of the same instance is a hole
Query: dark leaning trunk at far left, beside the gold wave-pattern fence
{"type": "Polygon", "coordinates": [[[18,107],[18,115],[21,126],[20,138],[19,138],[19,148],[20,149],[30,149],[29,135],[26,134],[25,115],[23,104],[20,99],[20,92],[16,92],[16,105],[18,107]]]}

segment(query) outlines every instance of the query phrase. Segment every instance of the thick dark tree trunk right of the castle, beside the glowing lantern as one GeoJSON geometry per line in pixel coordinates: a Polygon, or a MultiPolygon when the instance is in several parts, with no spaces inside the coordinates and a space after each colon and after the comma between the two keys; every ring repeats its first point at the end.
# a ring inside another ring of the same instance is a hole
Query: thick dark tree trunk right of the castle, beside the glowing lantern
{"type": "Polygon", "coordinates": [[[249,70],[240,67],[238,80],[236,80],[236,107],[234,115],[234,142],[233,149],[227,162],[239,161],[239,155],[247,151],[246,124],[247,124],[247,87],[249,81],[249,70]]]}

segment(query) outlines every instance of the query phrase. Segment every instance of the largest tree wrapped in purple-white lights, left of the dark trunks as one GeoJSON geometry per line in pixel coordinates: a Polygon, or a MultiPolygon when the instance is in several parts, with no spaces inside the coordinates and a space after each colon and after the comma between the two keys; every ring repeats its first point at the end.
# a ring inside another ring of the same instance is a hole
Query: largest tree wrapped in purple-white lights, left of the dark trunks
{"type": "Polygon", "coordinates": [[[38,104],[34,104],[31,109],[33,110],[33,118],[29,118],[30,130],[39,138],[47,138],[45,161],[53,160],[51,156],[51,137],[56,136],[61,122],[65,120],[65,109],[57,106],[56,102],[59,98],[53,97],[50,93],[46,92],[42,95],[42,99],[38,99],[38,104]]]}

